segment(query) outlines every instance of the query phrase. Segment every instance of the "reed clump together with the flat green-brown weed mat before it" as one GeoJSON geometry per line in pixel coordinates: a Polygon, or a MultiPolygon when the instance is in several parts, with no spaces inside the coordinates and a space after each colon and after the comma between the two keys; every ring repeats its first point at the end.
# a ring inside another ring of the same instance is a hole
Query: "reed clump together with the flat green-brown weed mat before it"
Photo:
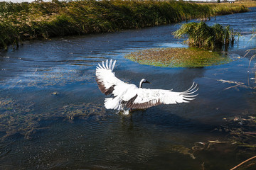
{"type": "Polygon", "coordinates": [[[185,23],[174,35],[176,38],[187,35],[186,43],[190,48],[153,48],[131,52],[125,57],[140,64],[158,67],[206,67],[225,64],[231,59],[223,56],[220,51],[223,46],[227,49],[232,45],[238,33],[229,26],[207,26],[201,22],[185,23]]]}

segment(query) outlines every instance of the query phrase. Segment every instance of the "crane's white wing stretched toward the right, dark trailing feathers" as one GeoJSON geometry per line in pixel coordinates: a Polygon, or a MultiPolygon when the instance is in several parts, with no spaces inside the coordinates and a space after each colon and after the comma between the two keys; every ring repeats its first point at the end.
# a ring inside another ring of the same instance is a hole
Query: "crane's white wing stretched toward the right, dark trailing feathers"
{"type": "Polygon", "coordinates": [[[160,104],[175,104],[175,103],[188,103],[193,100],[194,93],[198,91],[197,85],[193,83],[191,88],[183,92],[175,92],[162,89],[142,89],[134,90],[129,96],[134,95],[129,101],[122,101],[122,104],[127,108],[150,108],[160,104]]]}

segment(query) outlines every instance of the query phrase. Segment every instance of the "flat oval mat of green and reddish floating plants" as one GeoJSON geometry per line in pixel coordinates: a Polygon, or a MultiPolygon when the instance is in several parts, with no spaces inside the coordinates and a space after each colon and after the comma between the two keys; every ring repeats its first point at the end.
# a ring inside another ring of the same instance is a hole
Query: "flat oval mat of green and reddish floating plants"
{"type": "Polygon", "coordinates": [[[159,67],[206,67],[230,62],[218,52],[196,48],[152,48],[126,55],[129,60],[159,67]]]}

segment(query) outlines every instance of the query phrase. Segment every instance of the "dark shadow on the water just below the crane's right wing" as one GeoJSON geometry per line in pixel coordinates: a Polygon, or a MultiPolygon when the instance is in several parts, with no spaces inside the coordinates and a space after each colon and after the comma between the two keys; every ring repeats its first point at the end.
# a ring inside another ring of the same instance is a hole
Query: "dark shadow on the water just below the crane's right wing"
{"type": "Polygon", "coordinates": [[[178,113],[167,112],[160,106],[119,116],[122,117],[122,128],[127,128],[127,130],[141,129],[145,130],[144,132],[159,130],[161,132],[174,132],[175,134],[182,133],[188,136],[196,133],[207,136],[210,134],[220,135],[219,132],[215,131],[219,127],[217,124],[208,124],[200,120],[186,118],[178,115],[178,113]]]}

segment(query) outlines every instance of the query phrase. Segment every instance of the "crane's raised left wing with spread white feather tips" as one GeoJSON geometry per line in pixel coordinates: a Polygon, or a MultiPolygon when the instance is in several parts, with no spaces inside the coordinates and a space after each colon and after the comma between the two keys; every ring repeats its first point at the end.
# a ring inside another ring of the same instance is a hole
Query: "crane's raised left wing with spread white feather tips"
{"type": "Polygon", "coordinates": [[[106,60],[106,63],[102,61],[102,65],[98,64],[96,68],[96,81],[102,94],[112,94],[114,86],[117,84],[125,84],[124,81],[114,76],[113,69],[115,63],[116,60],[114,60],[114,62],[112,60],[110,60],[110,62],[106,60]]]}

